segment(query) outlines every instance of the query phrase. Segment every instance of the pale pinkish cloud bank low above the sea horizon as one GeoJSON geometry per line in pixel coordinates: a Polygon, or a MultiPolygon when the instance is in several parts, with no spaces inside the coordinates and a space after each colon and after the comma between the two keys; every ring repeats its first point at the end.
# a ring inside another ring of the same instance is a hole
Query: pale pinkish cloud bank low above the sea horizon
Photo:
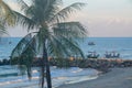
{"type": "Polygon", "coordinates": [[[132,36],[132,20],[112,19],[112,20],[92,20],[86,23],[90,36],[132,36]]]}

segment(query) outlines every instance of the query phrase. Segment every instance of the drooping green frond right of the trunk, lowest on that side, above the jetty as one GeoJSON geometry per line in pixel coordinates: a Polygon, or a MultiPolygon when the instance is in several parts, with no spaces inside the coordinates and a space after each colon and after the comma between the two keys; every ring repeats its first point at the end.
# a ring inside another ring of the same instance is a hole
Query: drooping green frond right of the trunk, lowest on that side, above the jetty
{"type": "Polygon", "coordinates": [[[65,58],[74,54],[84,58],[82,51],[75,40],[53,35],[47,45],[47,51],[51,56],[65,58]]]}

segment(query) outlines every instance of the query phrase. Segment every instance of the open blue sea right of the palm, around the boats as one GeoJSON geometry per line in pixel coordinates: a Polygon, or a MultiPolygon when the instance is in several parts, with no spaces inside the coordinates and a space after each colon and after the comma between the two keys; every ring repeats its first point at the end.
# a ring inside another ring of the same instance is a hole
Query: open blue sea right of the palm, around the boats
{"type": "Polygon", "coordinates": [[[106,52],[117,52],[120,58],[132,59],[132,37],[90,37],[85,38],[80,47],[85,55],[96,52],[105,57],[106,52]],[[95,45],[88,45],[88,42],[94,42],[95,45]]]}

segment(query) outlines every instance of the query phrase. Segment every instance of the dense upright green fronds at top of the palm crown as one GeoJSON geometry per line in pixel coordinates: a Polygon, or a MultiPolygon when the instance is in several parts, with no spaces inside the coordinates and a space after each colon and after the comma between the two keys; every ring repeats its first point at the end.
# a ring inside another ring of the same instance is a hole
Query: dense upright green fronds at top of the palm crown
{"type": "Polygon", "coordinates": [[[33,4],[25,12],[37,23],[44,23],[47,19],[58,11],[62,0],[33,0],[33,4]]]}

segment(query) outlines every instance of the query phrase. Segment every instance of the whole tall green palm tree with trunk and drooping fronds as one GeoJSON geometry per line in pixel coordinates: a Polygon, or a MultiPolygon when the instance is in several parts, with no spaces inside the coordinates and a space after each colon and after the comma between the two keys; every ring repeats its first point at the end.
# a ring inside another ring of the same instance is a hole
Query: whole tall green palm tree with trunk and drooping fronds
{"type": "Polygon", "coordinates": [[[24,14],[15,12],[18,22],[35,33],[23,37],[12,51],[12,64],[19,64],[20,68],[26,67],[31,79],[31,67],[34,57],[41,55],[41,87],[44,88],[46,74],[47,88],[52,88],[48,56],[57,58],[68,57],[70,54],[84,57],[77,40],[86,36],[86,29],[79,22],[64,22],[70,13],[80,10],[85,3],[76,2],[63,8],[62,0],[32,0],[26,4],[19,0],[24,14]]]}

